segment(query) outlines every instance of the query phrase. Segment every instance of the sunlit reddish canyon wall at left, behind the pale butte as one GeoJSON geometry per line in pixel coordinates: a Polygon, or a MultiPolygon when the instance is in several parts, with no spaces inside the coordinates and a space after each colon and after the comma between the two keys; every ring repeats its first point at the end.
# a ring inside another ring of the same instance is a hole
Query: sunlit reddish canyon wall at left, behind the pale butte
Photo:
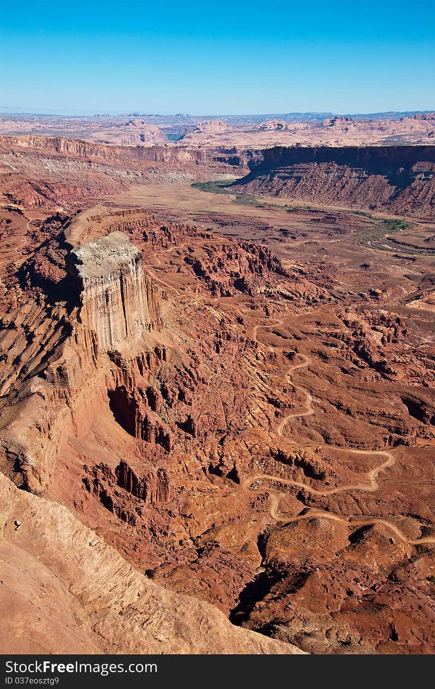
{"type": "MultiPolygon", "coordinates": [[[[131,142],[129,142],[131,143],[131,142]]],[[[237,156],[236,156],[237,157],[237,156]]],[[[168,145],[107,145],[61,136],[0,136],[0,200],[75,212],[144,183],[189,183],[234,172],[242,158],[168,145]]]]}

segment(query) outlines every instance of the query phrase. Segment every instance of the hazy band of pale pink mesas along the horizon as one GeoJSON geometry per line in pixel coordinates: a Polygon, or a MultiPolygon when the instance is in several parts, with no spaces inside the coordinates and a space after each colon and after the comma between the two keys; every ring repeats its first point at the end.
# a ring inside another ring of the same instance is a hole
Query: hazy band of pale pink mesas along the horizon
{"type": "Polygon", "coordinates": [[[361,146],[433,143],[433,112],[375,114],[289,113],[263,116],[0,115],[0,135],[65,137],[108,145],[151,147],[361,146]]]}

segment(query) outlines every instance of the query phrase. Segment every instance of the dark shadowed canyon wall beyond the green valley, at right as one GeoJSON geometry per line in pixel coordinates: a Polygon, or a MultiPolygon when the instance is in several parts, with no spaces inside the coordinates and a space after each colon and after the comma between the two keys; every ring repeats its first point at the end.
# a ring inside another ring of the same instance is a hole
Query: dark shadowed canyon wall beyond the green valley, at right
{"type": "Polygon", "coordinates": [[[237,191],[433,218],[435,147],[275,147],[237,191]]]}

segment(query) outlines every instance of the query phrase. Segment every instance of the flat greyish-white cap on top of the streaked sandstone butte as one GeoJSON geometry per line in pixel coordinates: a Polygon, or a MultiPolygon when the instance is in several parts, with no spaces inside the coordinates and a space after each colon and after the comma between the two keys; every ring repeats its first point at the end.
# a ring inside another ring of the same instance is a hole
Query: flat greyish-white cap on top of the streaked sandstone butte
{"type": "Polygon", "coordinates": [[[71,258],[82,278],[99,278],[117,273],[140,256],[140,251],[124,232],[111,232],[71,251],[71,258]]]}

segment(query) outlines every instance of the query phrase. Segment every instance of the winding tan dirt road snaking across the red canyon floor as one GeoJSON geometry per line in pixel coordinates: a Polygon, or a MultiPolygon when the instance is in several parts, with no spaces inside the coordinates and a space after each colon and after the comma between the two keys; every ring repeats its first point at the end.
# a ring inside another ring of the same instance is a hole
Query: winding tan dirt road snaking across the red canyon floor
{"type": "MultiPolygon", "coordinates": [[[[241,313],[241,316],[245,316],[246,314],[241,311],[241,309],[236,309],[239,313],[241,313]]],[[[298,314],[300,316],[304,315],[302,313],[298,314]]],[[[257,332],[260,328],[263,329],[269,329],[271,327],[275,327],[276,325],[284,325],[284,322],[281,318],[274,319],[274,322],[268,323],[267,325],[255,325],[252,329],[252,338],[260,344],[257,338],[257,332]]],[[[304,367],[309,366],[311,363],[311,359],[304,354],[300,355],[303,358],[303,361],[299,364],[293,364],[289,369],[287,369],[285,373],[285,380],[287,381],[287,378],[291,376],[291,373],[294,371],[297,371],[298,369],[302,369],[304,367]]],[[[294,384],[293,384],[294,385],[294,384]]],[[[286,442],[289,442],[293,445],[297,445],[298,443],[294,442],[290,438],[287,438],[287,436],[283,435],[282,431],[284,430],[286,424],[289,422],[289,420],[294,419],[294,418],[300,418],[303,416],[309,416],[313,413],[315,413],[315,410],[313,409],[313,398],[309,391],[304,389],[301,386],[295,386],[296,389],[302,391],[304,395],[306,395],[306,400],[305,400],[305,407],[304,411],[296,412],[296,413],[291,413],[287,414],[280,424],[276,428],[276,434],[280,436],[280,438],[284,438],[286,442]]],[[[251,491],[252,485],[256,482],[260,481],[271,481],[274,482],[278,485],[283,485],[283,486],[295,486],[295,488],[303,489],[304,491],[307,491],[308,493],[311,493],[311,495],[320,495],[320,496],[325,496],[325,495],[335,495],[337,493],[345,493],[348,491],[368,491],[368,492],[375,492],[379,489],[379,485],[377,483],[377,475],[379,474],[380,471],[384,471],[385,469],[388,469],[389,466],[392,466],[395,462],[394,457],[392,453],[384,450],[356,450],[356,449],[351,449],[347,447],[341,447],[337,445],[328,445],[328,444],[322,444],[321,446],[327,447],[328,449],[333,449],[334,451],[337,452],[347,452],[347,453],[353,453],[353,454],[359,454],[359,455],[379,455],[381,457],[386,457],[386,460],[382,462],[381,464],[378,464],[375,466],[374,469],[371,469],[368,471],[368,473],[365,474],[366,477],[366,482],[357,482],[353,484],[347,484],[345,486],[340,486],[339,488],[333,488],[329,490],[324,490],[324,491],[318,491],[317,489],[314,489],[312,486],[309,486],[308,484],[305,484],[300,481],[292,481],[289,479],[284,479],[279,476],[272,476],[270,474],[256,474],[254,476],[248,477],[243,479],[241,482],[241,489],[242,491],[251,491]]],[[[343,517],[339,517],[338,515],[335,515],[331,512],[326,512],[326,511],[319,511],[315,510],[313,508],[308,508],[306,513],[303,515],[295,515],[295,516],[286,516],[286,515],[280,515],[278,513],[278,508],[280,506],[280,500],[284,493],[278,493],[278,491],[274,491],[273,489],[261,489],[260,491],[257,491],[257,493],[267,493],[269,494],[269,515],[273,520],[276,522],[286,522],[287,524],[291,522],[298,522],[300,520],[304,519],[311,519],[312,517],[322,517],[324,519],[332,520],[334,522],[339,522],[340,524],[344,524],[345,526],[348,526],[349,528],[355,528],[359,526],[372,526],[373,524],[383,524],[383,526],[387,526],[387,528],[390,529],[401,541],[408,543],[412,546],[417,546],[423,543],[430,543],[430,544],[435,544],[435,537],[434,536],[427,536],[427,537],[421,537],[418,539],[410,539],[408,538],[403,531],[401,531],[400,528],[392,524],[391,522],[388,522],[388,520],[383,520],[379,517],[366,517],[366,519],[363,520],[346,520],[343,517]]]]}

